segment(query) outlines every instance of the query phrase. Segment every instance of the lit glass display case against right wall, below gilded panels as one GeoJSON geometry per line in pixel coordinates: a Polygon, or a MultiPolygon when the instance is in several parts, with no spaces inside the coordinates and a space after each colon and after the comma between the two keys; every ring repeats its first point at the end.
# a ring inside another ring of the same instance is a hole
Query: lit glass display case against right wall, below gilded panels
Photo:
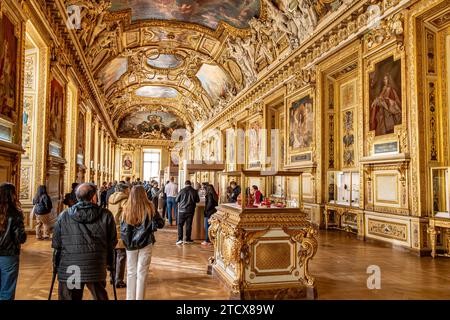
{"type": "Polygon", "coordinates": [[[328,202],[359,207],[359,172],[328,172],[328,202]]]}

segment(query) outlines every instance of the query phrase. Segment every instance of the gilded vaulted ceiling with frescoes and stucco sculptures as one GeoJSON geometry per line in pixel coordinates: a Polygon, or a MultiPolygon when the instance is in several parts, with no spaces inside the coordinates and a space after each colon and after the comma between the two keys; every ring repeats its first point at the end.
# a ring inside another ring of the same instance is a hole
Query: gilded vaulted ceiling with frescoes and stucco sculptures
{"type": "Polygon", "coordinates": [[[139,110],[198,128],[351,2],[65,0],[82,8],[78,40],[119,135],[139,110]]]}

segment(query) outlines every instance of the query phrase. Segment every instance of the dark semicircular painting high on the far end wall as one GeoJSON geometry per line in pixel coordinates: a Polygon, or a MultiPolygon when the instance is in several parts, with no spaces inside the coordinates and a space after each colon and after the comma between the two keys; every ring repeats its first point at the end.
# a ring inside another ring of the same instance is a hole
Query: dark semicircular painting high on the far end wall
{"type": "Polygon", "coordinates": [[[179,117],[161,111],[140,111],[126,116],[119,124],[123,138],[171,139],[175,130],[186,129],[179,117]]]}

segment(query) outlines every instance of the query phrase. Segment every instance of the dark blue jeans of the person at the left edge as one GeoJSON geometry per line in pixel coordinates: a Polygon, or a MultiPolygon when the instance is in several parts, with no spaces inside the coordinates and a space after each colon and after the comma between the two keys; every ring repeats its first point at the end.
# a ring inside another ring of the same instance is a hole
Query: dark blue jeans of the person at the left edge
{"type": "Polygon", "coordinates": [[[14,300],[18,276],[19,256],[0,256],[0,300],[14,300]]]}

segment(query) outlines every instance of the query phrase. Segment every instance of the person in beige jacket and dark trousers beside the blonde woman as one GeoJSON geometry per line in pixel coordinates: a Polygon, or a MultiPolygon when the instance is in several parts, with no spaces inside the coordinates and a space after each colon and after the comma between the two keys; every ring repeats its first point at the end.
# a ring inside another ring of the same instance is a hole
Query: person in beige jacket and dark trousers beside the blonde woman
{"type": "Polygon", "coordinates": [[[123,281],[125,277],[125,263],[127,260],[127,252],[123,244],[122,239],[120,239],[120,221],[122,219],[122,211],[124,205],[128,201],[130,195],[130,188],[127,184],[119,183],[116,186],[115,192],[109,197],[108,208],[114,215],[114,220],[117,227],[117,243],[116,252],[116,279],[111,279],[115,281],[116,288],[126,288],[126,284],[123,281]]]}

